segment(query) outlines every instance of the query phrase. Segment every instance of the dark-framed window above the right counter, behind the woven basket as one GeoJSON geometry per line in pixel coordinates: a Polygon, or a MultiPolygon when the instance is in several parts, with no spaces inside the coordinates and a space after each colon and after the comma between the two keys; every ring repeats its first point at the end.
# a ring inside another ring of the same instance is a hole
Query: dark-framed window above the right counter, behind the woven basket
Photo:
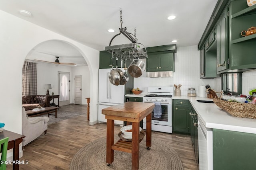
{"type": "Polygon", "coordinates": [[[233,95],[242,94],[242,73],[222,74],[222,89],[225,94],[228,91],[233,95]]]}

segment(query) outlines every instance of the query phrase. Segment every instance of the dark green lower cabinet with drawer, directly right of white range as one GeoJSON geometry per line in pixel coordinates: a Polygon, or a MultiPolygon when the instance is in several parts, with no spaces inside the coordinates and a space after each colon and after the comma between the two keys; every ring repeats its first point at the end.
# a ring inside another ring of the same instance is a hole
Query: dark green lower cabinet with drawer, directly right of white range
{"type": "Polygon", "coordinates": [[[173,132],[190,133],[188,114],[188,100],[174,100],[172,111],[173,132]]]}

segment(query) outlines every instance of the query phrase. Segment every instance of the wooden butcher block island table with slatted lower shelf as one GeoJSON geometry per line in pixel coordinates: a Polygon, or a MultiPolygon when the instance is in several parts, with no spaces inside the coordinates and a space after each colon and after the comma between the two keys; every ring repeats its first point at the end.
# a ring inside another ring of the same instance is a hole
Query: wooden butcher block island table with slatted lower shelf
{"type": "Polygon", "coordinates": [[[132,154],[132,170],[139,169],[140,155],[140,121],[146,117],[146,147],[151,147],[151,113],[154,103],[126,102],[102,109],[102,114],[107,119],[107,150],[106,162],[114,161],[114,150],[129,152],[132,154]],[[114,144],[114,120],[132,123],[132,141],[125,142],[120,139],[114,144]]]}

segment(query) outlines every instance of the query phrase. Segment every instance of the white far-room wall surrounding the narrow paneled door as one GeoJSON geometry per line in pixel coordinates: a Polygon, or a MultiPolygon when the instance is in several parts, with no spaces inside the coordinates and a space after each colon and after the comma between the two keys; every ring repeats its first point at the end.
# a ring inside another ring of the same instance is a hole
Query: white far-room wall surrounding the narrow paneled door
{"type": "MultiPolygon", "coordinates": [[[[82,105],[87,105],[87,99],[90,97],[90,72],[88,66],[73,67],[72,84],[74,86],[75,76],[82,76],[82,105]]],[[[74,88],[73,88],[74,89],[74,88]]],[[[74,90],[73,90],[74,91],[74,90]]],[[[73,98],[74,103],[74,98],[73,98]]]]}

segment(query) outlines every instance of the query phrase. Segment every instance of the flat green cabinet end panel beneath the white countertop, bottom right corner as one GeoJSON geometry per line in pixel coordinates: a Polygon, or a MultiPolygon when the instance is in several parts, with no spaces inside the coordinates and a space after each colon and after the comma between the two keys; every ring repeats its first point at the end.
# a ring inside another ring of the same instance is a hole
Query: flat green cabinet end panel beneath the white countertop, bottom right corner
{"type": "Polygon", "coordinates": [[[214,170],[255,170],[256,134],[213,129],[214,170]]]}

